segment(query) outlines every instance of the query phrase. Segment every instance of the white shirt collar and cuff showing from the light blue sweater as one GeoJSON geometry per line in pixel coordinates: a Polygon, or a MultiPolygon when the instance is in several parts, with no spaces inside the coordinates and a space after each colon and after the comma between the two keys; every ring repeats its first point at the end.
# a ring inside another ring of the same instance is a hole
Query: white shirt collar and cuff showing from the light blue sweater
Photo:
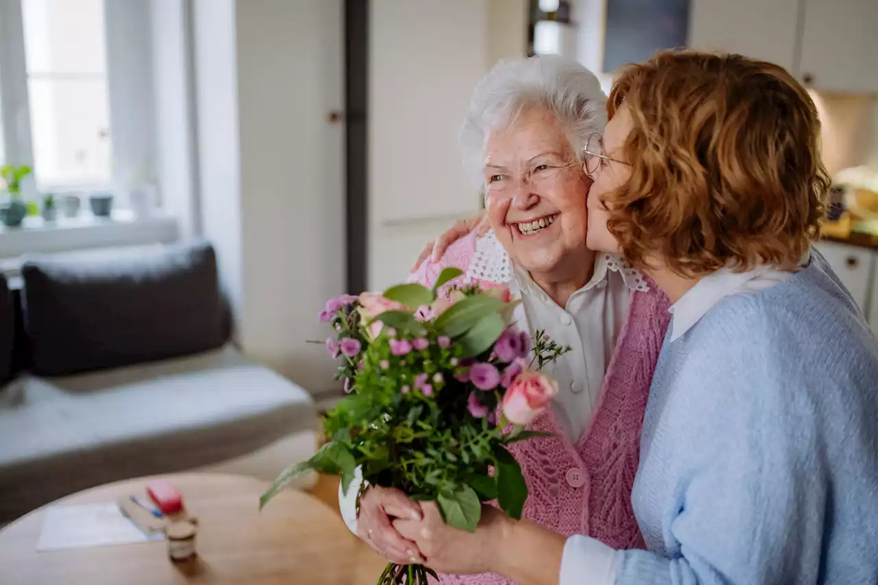
{"type": "MultiPolygon", "coordinates": [[[[792,276],[773,266],[759,266],[746,272],[723,269],[702,278],[668,309],[673,314],[668,343],[684,336],[723,298],[755,293],[792,276]]],[[[596,538],[574,535],[565,543],[558,585],[613,585],[618,562],[615,549],[596,538]]]]}

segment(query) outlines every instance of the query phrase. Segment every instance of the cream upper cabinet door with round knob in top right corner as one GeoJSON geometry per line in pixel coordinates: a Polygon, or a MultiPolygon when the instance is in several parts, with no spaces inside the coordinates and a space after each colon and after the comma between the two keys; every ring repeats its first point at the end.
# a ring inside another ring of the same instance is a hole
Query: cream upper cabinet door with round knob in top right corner
{"type": "Polygon", "coordinates": [[[878,91],[878,0],[801,1],[802,81],[823,91],[878,91]]]}

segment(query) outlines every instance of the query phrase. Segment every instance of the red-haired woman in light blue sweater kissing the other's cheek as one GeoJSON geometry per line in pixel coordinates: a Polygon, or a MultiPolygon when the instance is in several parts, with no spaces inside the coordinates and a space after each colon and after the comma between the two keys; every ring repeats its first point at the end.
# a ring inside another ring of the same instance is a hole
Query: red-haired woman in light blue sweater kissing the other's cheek
{"type": "Polygon", "coordinates": [[[878,342],[810,250],[829,181],[810,97],[739,55],[657,54],[588,145],[590,248],[673,301],[632,495],[648,551],[487,509],[393,525],[427,564],[522,585],[878,582],[878,342]]]}

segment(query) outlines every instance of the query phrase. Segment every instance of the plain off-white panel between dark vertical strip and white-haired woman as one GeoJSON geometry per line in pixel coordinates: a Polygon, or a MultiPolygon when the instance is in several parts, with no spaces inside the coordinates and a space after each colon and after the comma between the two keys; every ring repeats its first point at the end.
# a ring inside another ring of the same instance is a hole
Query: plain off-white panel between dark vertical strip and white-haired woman
{"type": "Polygon", "coordinates": [[[371,3],[371,289],[406,278],[424,242],[479,209],[457,129],[488,67],[487,26],[486,0],[371,3]]]}

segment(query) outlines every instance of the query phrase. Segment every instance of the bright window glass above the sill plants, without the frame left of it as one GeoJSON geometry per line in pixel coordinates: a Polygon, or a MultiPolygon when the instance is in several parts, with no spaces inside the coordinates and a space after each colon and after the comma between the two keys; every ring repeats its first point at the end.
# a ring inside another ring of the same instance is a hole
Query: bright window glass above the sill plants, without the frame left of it
{"type": "Polygon", "coordinates": [[[104,0],[22,2],[40,191],[111,180],[104,0]]]}

